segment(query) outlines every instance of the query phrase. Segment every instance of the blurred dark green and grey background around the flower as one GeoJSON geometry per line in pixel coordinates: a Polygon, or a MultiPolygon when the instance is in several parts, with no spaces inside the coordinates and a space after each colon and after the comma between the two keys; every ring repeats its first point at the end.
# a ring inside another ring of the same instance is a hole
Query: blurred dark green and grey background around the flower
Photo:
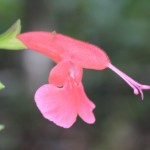
{"type": "MultiPolygon", "coordinates": [[[[150,0],[0,0],[0,33],[18,18],[22,32],[57,31],[103,48],[112,63],[150,84],[150,0]]],[[[150,91],[145,99],[109,69],[85,70],[96,123],[63,129],[42,117],[34,93],[54,63],[30,50],[0,51],[0,150],[149,150],[150,91]]]]}

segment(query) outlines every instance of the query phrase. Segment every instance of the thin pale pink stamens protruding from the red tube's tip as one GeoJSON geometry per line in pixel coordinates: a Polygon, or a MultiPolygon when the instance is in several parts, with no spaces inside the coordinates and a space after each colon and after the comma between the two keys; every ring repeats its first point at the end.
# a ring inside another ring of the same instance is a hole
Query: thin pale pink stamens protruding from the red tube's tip
{"type": "Polygon", "coordinates": [[[150,90],[149,85],[142,85],[138,83],[137,81],[126,75],[124,72],[113,66],[111,63],[108,65],[108,68],[117,73],[133,89],[135,95],[138,95],[140,92],[141,99],[144,99],[144,94],[142,90],[150,90]]]}

